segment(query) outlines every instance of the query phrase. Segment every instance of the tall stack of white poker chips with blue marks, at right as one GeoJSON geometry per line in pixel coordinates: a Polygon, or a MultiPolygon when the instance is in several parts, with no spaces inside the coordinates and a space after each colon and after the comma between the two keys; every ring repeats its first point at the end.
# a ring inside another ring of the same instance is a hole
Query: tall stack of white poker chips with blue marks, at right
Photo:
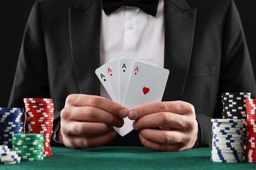
{"type": "Polygon", "coordinates": [[[213,122],[213,141],[211,161],[237,163],[243,159],[242,120],[211,119],[213,122]]]}

